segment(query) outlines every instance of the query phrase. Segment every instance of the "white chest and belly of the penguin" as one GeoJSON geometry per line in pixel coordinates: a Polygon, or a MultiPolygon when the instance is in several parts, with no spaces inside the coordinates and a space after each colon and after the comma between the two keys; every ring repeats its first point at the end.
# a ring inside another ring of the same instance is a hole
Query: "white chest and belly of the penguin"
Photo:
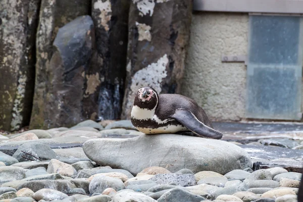
{"type": "Polygon", "coordinates": [[[155,109],[147,110],[133,106],[131,120],[134,126],[145,134],[175,133],[186,130],[182,124],[171,124],[172,121],[175,121],[174,119],[159,119],[155,114],[155,109]],[[148,124],[140,126],[141,122],[147,122],[148,124]]]}

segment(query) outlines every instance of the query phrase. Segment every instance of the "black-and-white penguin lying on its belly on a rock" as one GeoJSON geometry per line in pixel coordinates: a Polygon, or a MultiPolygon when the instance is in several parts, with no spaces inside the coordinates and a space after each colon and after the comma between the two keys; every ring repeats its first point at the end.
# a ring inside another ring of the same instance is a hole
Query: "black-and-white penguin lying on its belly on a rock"
{"type": "Polygon", "coordinates": [[[145,134],[190,132],[198,137],[223,137],[193,99],[180,94],[158,94],[150,86],[138,89],[130,120],[145,134]]]}

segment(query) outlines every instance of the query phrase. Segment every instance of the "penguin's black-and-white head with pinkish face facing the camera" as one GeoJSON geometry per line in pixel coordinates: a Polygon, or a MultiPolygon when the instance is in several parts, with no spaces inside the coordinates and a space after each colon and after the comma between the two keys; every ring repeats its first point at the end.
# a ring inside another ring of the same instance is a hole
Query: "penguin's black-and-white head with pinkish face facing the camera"
{"type": "Polygon", "coordinates": [[[154,109],[158,104],[157,91],[149,86],[144,86],[138,89],[135,96],[134,105],[142,109],[154,109]]]}

